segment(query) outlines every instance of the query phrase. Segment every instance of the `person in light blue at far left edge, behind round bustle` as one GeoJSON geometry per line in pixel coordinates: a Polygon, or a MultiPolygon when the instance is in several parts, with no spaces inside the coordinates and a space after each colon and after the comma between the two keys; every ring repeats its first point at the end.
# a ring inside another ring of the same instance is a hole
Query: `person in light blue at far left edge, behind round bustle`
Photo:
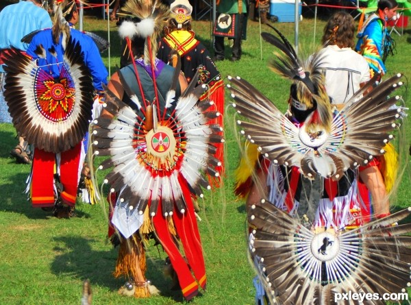
{"type": "MultiPolygon", "coordinates": [[[[11,48],[26,51],[28,45],[21,42],[21,38],[37,29],[45,29],[53,25],[41,3],[41,0],[21,1],[6,6],[0,12],[0,123],[12,123],[7,103],[3,97],[5,71],[2,58],[11,48]]],[[[29,164],[31,159],[27,153],[29,153],[27,142],[19,136],[18,145],[12,149],[10,154],[16,158],[17,162],[29,164]]]]}

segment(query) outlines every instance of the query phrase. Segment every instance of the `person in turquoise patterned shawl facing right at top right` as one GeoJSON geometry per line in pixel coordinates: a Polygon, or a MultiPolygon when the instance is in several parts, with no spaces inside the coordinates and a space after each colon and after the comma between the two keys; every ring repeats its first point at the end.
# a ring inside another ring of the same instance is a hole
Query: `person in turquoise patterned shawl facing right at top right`
{"type": "Polygon", "coordinates": [[[387,29],[387,23],[397,18],[398,3],[395,0],[378,1],[377,12],[371,14],[358,32],[356,51],[364,56],[374,73],[386,73],[385,61],[388,55],[393,55],[395,42],[387,29]]]}

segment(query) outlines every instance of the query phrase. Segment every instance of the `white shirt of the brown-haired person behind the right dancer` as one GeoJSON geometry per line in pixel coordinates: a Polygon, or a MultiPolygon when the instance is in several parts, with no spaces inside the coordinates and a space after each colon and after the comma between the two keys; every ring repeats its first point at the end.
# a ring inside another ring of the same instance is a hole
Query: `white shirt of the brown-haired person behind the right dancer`
{"type": "Polygon", "coordinates": [[[321,51],[321,68],[325,74],[325,89],[332,103],[346,103],[360,84],[370,80],[366,60],[351,48],[329,45],[321,51]]]}

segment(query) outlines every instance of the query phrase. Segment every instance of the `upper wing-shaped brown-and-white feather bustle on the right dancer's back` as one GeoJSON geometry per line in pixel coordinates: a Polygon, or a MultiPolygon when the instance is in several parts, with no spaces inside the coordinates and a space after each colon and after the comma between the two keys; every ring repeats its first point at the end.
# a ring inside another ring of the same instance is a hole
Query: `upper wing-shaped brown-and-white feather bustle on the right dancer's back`
{"type": "MultiPolygon", "coordinates": [[[[287,67],[292,69],[289,74],[295,75],[297,80],[295,69],[287,67]]],[[[395,122],[401,120],[405,110],[396,106],[401,97],[387,98],[402,85],[400,79],[401,74],[397,74],[378,85],[375,79],[371,80],[366,84],[366,88],[375,87],[371,93],[360,97],[365,88],[362,89],[335,114],[334,119],[329,101],[321,109],[323,103],[318,101],[322,98],[314,96],[317,110],[329,112],[332,121],[308,125],[313,112],[301,128],[240,77],[229,76],[227,88],[234,99],[232,106],[246,119],[237,121],[241,133],[258,145],[263,156],[275,164],[299,167],[308,178],[319,173],[324,178],[339,180],[347,169],[365,165],[373,156],[384,154],[382,147],[393,138],[390,132],[397,129],[395,122]]]]}

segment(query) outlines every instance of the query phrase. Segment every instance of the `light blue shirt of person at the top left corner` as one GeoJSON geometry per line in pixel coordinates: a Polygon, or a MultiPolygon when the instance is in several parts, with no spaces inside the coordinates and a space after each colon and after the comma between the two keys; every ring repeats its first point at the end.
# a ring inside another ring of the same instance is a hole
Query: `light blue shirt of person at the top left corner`
{"type": "MultiPolygon", "coordinates": [[[[36,29],[52,26],[49,13],[30,1],[8,5],[0,12],[0,49],[14,47],[25,51],[28,45],[21,38],[36,29]]],[[[0,72],[4,72],[2,65],[0,72]]]]}

